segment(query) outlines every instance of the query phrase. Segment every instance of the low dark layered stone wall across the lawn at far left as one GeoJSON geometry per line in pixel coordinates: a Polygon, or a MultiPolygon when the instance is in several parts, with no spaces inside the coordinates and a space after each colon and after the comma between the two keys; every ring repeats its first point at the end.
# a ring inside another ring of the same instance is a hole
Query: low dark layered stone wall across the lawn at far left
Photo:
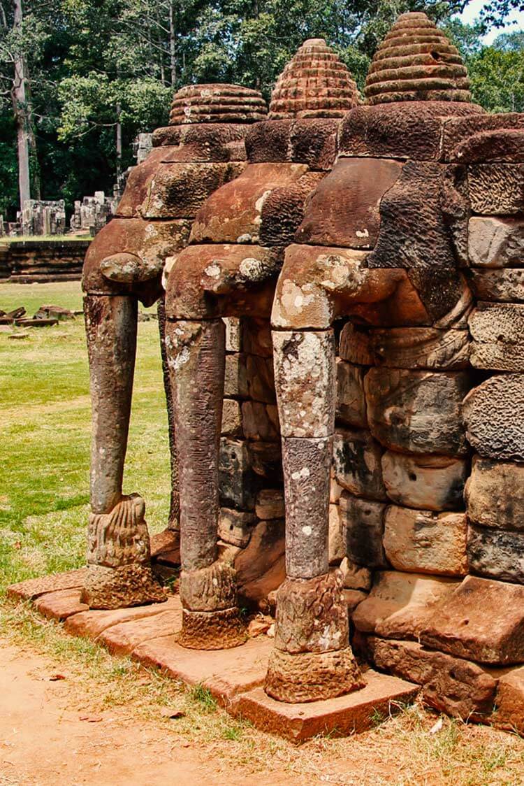
{"type": "Polygon", "coordinates": [[[79,281],[90,241],[13,241],[10,281],[18,284],[79,281]]]}

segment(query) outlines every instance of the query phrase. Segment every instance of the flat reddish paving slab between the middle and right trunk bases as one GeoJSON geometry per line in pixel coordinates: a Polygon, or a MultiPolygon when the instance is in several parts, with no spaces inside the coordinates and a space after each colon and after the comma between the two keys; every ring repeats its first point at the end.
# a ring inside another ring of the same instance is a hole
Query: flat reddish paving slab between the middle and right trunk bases
{"type": "Polygon", "coordinates": [[[232,649],[186,649],[173,635],[145,641],[134,648],[131,657],[189,685],[203,685],[229,708],[237,693],[263,684],[272,647],[273,639],[258,636],[232,649]]]}

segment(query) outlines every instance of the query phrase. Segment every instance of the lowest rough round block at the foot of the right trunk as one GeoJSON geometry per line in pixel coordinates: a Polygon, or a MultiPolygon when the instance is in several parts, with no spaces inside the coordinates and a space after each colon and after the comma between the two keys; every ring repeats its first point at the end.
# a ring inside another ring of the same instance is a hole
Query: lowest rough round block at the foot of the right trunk
{"type": "Polygon", "coordinates": [[[273,649],[264,689],[273,699],[297,704],[334,699],[364,686],[365,680],[350,647],[292,655],[273,649]]]}

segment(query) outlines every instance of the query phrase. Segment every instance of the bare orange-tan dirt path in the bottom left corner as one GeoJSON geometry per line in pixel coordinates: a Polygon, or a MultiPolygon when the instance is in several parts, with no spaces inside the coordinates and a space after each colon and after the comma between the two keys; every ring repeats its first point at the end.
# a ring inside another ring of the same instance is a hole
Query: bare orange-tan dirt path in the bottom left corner
{"type": "MultiPolygon", "coordinates": [[[[208,751],[202,755],[192,744],[182,747],[155,725],[137,721],[131,711],[82,711],[74,685],[51,677],[45,659],[0,645],[2,786],[268,784],[267,775],[243,774],[235,762],[224,766],[208,751]]],[[[278,773],[271,773],[270,782],[299,783],[278,773]]]]}

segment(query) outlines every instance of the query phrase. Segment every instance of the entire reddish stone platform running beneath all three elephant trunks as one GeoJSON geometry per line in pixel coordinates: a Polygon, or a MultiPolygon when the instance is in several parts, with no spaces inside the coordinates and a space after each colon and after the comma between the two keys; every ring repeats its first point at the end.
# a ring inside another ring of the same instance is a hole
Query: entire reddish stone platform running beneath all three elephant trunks
{"type": "Polygon", "coordinates": [[[69,571],[30,579],[10,586],[8,596],[31,601],[47,619],[63,622],[71,635],[90,638],[115,655],[129,655],[188,685],[202,685],[230,714],[288,740],[365,731],[419,691],[411,682],[367,670],[366,687],[347,696],[301,704],[275,701],[263,690],[271,638],[262,635],[241,647],[212,652],[185,649],[178,645],[181,603],[177,595],[160,604],[91,611],[80,603],[83,576],[84,571],[69,571]]]}

